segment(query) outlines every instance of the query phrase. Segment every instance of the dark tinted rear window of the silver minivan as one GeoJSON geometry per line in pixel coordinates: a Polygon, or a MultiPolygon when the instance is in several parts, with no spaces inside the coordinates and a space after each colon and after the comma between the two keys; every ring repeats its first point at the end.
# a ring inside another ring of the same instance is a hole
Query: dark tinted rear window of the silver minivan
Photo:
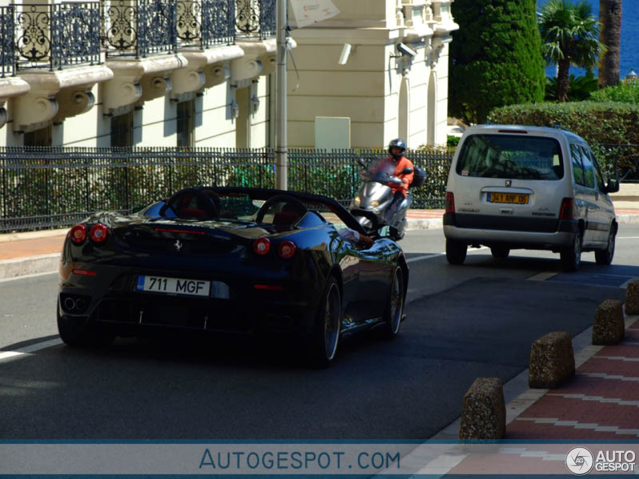
{"type": "Polygon", "coordinates": [[[559,142],[528,135],[470,135],[461,147],[456,171],[476,178],[564,178],[559,142]]]}

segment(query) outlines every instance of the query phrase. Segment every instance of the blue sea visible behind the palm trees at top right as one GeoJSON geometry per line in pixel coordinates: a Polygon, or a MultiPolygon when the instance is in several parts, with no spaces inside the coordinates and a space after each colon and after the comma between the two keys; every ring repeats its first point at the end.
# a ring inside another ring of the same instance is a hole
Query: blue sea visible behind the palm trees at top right
{"type": "MultiPolygon", "coordinates": [[[[586,0],[592,6],[592,15],[599,18],[599,0],[586,0]]],[[[547,0],[538,0],[537,9],[546,4],[547,0]]],[[[630,69],[639,74],[639,0],[623,0],[621,18],[621,57],[619,72],[625,77],[630,69]]],[[[570,73],[579,77],[585,75],[581,68],[571,67],[570,73]]],[[[555,67],[546,68],[546,75],[554,77],[555,67]]],[[[595,71],[595,75],[597,72],[595,71]]]]}

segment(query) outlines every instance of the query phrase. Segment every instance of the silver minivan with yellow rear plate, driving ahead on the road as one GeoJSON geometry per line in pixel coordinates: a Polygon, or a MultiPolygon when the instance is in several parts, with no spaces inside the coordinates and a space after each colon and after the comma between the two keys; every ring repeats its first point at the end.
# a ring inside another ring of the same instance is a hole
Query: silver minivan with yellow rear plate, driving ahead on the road
{"type": "Polygon", "coordinates": [[[450,264],[466,249],[491,248],[496,258],[511,249],[559,253],[566,271],[579,268],[581,252],[597,264],[615,254],[617,220],[587,142],[562,128],[481,125],[466,129],[452,160],[443,231],[450,264]]]}

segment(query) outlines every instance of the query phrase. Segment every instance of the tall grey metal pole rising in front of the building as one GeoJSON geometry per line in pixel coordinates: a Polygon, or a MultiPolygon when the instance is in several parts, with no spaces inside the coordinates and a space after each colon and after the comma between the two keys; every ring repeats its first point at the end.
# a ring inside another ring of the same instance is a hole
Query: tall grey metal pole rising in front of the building
{"type": "Polygon", "coordinates": [[[275,61],[275,188],[288,190],[288,146],[286,139],[286,13],[288,0],[275,0],[277,4],[277,30],[275,61]]]}

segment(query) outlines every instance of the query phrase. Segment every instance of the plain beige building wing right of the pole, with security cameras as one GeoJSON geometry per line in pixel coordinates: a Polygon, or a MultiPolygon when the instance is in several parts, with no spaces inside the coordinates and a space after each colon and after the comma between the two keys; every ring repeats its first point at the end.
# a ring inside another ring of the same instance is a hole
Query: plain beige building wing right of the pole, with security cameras
{"type": "Polygon", "coordinates": [[[316,145],[316,117],[350,118],[352,148],[445,144],[450,3],[334,0],[337,16],[294,30],[289,146],[316,145]]]}

